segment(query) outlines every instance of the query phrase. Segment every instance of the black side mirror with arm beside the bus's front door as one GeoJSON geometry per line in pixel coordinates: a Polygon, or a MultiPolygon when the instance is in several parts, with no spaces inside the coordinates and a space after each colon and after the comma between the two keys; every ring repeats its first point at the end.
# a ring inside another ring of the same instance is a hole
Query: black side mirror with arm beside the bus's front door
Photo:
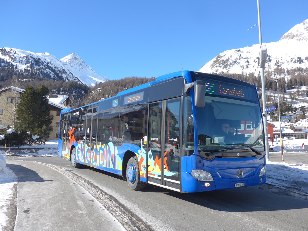
{"type": "Polygon", "coordinates": [[[195,90],[195,106],[204,107],[205,105],[205,82],[196,80],[193,83],[186,83],[184,93],[187,94],[191,88],[195,90]]]}

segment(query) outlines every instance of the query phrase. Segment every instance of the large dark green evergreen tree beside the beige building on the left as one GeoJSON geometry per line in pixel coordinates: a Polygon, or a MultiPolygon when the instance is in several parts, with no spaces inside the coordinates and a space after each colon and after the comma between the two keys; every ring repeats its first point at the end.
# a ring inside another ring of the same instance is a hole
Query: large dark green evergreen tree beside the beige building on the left
{"type": "Polygon", "coordinates": [[[32,86],[26,87],[17,107],[18,129],[32,132],[35,128],[43,128],[44,125],[51,124],[48,92],[44,84],[37,91],[32,86]]]}

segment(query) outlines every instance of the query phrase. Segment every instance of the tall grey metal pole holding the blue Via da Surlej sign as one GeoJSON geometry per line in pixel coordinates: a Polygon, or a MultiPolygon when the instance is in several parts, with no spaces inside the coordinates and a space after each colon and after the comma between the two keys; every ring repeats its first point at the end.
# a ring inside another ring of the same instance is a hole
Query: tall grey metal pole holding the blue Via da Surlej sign
{"type": "MultiPolygon", "coordinates": [[[[261,16],[260,16],[260,1],[257,0],[258,5],[258,26],[259,26],[259,41],[260,46],[262,45],[262,34],[261,34],[261,16]]],[[[261,62],[261,60],[260,60],[261,62]]],[[[267,114],[266,114],[266,95],[265,95],[265,78],[264,78],[264,68],[261,68],[261,84],[262,84],[262,107],[263,107],[263,124],[264,124],[264,139],[265,139],[265,155],[266,159],[270,160],[269,151],[269,136],[267,128],[267,114]]]]}

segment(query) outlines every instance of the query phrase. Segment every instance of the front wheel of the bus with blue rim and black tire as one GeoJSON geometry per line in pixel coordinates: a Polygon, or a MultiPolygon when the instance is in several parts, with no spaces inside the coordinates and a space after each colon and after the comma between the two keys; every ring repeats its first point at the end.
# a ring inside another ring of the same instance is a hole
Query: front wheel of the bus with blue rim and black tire
{"type": "Polygon", "coordinates": [[[140,181],[140,170],[136,156],[133,156],[128,160],[126,167],[126,180],[129,188],[132,190],[141,190],[146,185],[145,182],[140,181]]]}

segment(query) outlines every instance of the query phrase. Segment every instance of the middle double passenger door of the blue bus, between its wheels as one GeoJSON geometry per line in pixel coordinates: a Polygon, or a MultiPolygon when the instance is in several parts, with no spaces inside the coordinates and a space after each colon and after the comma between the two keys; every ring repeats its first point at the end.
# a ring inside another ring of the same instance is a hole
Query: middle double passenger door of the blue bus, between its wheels
{"type": "Polygon", "coordinates": [[[85,161],[84,164],[96,168],[96,146],[98,123],[98,107],[87,108],[85,129],[85,161]]]}

